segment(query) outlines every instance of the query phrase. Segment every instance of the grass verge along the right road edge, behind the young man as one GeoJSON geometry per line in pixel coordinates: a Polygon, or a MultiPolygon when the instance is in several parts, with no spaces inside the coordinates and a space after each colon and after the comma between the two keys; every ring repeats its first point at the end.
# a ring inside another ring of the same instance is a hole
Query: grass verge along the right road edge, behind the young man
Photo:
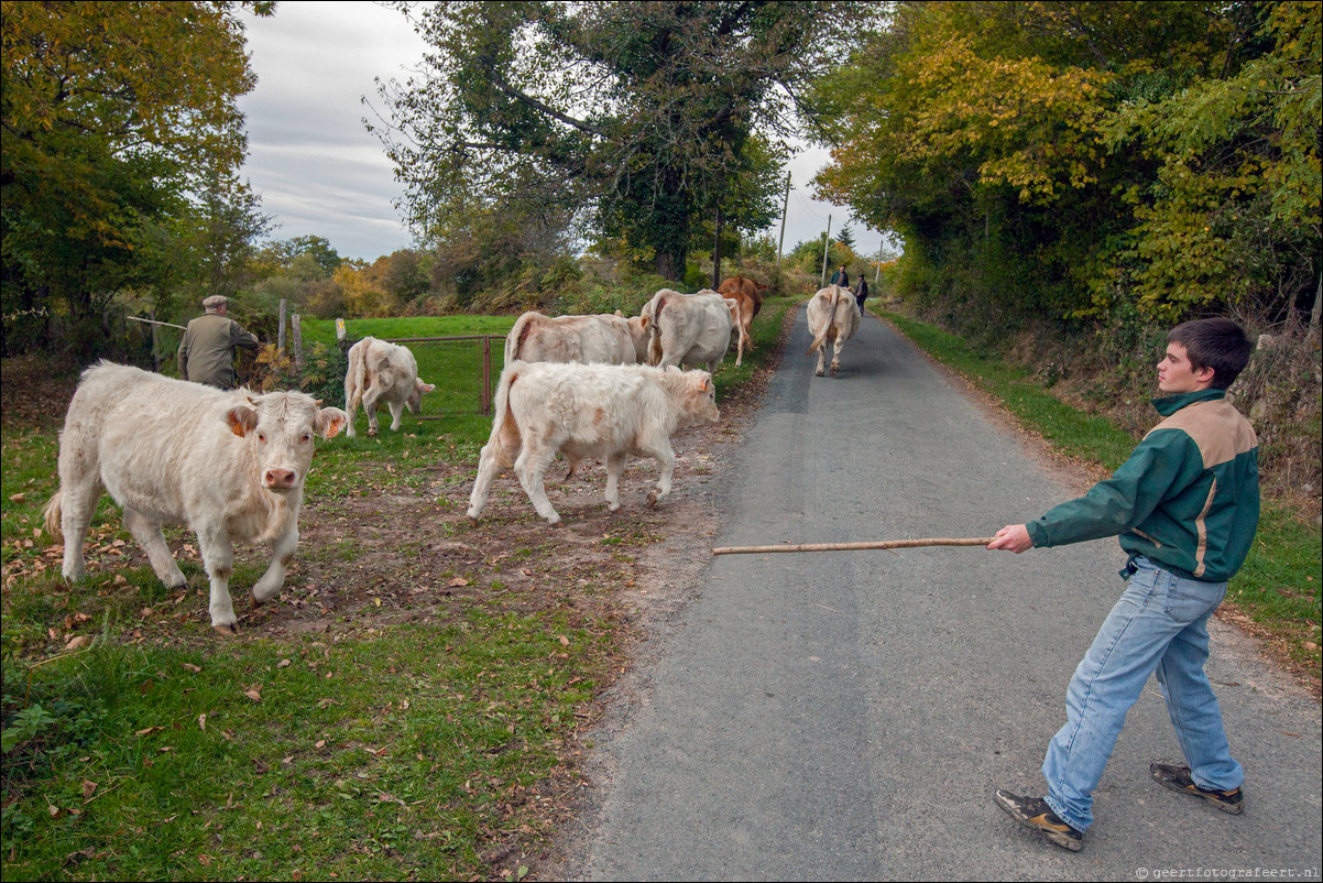
{"type": "MultiPolygon", "coordinates": [[[[1024,426],[1058,451],[1115,470],[1136,440],[1107,420],[1080,412],[1043,388],[1029,372],[980,353],[963,340],[894,312],[881,312],[929,355],[1000,400],[1024,426]]],[[[1323,670],[1320,638],[1323,532],[1306,514],[1265,500],[1254,549],[1226,592],[1224,608],[1266,638],[1314,683],[1323,670]]]]}

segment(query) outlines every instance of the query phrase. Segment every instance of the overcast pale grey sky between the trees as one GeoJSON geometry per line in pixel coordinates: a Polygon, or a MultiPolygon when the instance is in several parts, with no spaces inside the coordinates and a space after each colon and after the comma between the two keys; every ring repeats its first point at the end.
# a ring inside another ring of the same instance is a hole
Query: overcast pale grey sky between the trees
{"type": "MultiPolygon", "coordinates": [[[[368,0],[279,3],[275,16],[243,17],[257,87],[239,101],[247,115],[249,158],[242,175],[277,226],[271,238],[320,236],[341,257],[374,261],[409,248],[411,237],[394,203],[404,188],[361,103],[377,102],[373,77],[404,79],[422,61],[425,44],[394,9],[368,0]]],[[[382,109],[385,113],[385,109],[382,109]]],[[[847,210],[812,199],[808,184],[830,159],[806,148],[790,163],[794,191],[785,249],[827,228],[847,210]]],[[[769,233],[779,234],[777,226],[769,233]]],[[[852,225],[856,252],[877,254],[881,237],[852,225]]]]}

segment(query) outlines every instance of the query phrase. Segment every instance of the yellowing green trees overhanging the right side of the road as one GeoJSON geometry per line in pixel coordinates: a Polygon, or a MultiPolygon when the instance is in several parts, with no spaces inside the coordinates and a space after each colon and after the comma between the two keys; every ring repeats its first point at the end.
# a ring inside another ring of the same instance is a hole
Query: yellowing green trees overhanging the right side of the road
{"type": "Polygon", "coordinates": [[[1318,285],[1318,3],[898,4],[820,81],[818,181],[902,232],[975,326],[1208,310],[1318,285]],[[984,320],[988,319],[988,320],[984,320]]]}

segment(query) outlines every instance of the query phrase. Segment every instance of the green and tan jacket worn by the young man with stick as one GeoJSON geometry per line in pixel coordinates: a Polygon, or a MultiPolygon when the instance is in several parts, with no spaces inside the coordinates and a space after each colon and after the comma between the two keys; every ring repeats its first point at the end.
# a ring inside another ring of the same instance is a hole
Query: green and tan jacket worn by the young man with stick
{"type": "Polygon", "coordinates": [[[1179,576],[1224,582],[1258,527],[1258,438],[1221,389],[1154,398],[1166,420],[1115,475],[1028,524],[1036,547],[1121,536],[1179,576]]]}

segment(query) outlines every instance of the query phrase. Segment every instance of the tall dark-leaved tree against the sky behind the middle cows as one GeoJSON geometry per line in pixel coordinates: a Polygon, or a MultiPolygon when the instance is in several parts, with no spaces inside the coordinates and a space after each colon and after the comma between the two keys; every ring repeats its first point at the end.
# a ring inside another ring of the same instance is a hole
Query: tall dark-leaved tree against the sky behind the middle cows
{"type": "Polygon", "coordinates": [[[759,180],[758,132],[775,154],[794,131],[852,7],[430,7],[417,21],[437,49],[427,75],[381,87],[410,222],[427,241],[487,212],[589,224],[676,278],[705,220],[753,230],[775,213],[775,185],[754,199],[736,185],[759,180]]]}

